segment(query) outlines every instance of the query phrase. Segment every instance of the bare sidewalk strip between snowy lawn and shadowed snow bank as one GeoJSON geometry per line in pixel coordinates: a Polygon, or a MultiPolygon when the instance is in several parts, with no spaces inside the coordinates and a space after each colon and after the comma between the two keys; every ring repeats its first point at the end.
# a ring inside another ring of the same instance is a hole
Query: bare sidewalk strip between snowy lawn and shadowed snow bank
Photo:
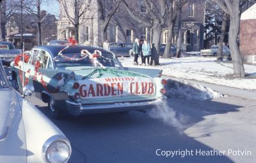
{"type": "Polygon", "coordinates": [[[220,92],[221,94],[226,94],[226,95],[229,95],[229,96],[242,97],[242,98],[245,98],[245,99],[256,100],[256,90],[237,89],[237,88],[234,88],[234,87],[227,87],[227,86],[223,86],[223,85],[215,85],[215,84],[212,84],[212,83],[204,83],[202,81],[187,80],[187,79],[182,79],[182,78],[174,78],[174,77],[165,76],[165,75],[163,75],[162,78],[164,78],[166,80],[168,80],[168,79],[171,79],[171,80],[186,80],[186,81],[189,81],[191,83],[195,83],[195,84],[198,84],[198,85],[203,85],[205,87],[209,87],[212,90],[220,92]]]}

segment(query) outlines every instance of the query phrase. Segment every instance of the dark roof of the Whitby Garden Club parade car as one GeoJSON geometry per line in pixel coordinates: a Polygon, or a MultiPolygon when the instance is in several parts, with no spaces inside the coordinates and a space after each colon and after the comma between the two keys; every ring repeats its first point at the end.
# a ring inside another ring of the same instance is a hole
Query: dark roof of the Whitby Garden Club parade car
{"type": "MultiPolygon", "coordinates": [[[[44,45],[44,46],[36,46],[35,48],[41,48],[47,52],[49,52],[52,57],[56,57],[58,53],[63,49],[67,47],[67,45],[44,45]]],[[[100,50],[104,54],[112,55],[113,53],[107,50],[104,50],[101,47],[98,46],[70,46],[66,50],[62,52],[62,54],[68,54],[68,53],[81,53],[81,50],[88,50],[90,53],[94,53],[94,50],[100,50]]]]}

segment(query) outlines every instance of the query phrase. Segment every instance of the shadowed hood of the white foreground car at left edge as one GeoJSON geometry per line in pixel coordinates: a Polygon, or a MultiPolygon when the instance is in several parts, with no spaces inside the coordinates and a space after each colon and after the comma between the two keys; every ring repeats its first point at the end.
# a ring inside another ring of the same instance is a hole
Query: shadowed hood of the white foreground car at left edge
{"type": "Polygon", "coordinates": [[[21,116],[17,95],[10,89],[0,89],[0,142],[6,138],[15,120],[21,116]]]}

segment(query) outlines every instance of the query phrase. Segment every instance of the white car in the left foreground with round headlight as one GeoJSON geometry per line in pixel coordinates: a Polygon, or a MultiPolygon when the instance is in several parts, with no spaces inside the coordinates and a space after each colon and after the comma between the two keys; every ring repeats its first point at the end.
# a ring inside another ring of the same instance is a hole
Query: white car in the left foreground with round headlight
{"type": "Polygon", "coordinates": [[[10,87],[0,60],[0,162],[68,162],[65,135],[10,87]]]}

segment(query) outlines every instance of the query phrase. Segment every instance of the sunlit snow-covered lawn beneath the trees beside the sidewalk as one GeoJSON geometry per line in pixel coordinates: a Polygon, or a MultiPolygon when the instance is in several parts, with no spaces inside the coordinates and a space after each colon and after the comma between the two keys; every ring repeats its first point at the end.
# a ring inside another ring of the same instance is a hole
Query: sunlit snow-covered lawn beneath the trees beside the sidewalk
{"type": "MultiPolygon", "coordinates": [[[[215,57],[182,57],[161,59],[160,66],[135,66],[133,57],[118,58],[124,67],[163,69],[163,74],[175,78],[205,81],[239,89],[256,90],[256,65],[244,64],[246,78],[234,78],[232,62],[216,62],[215,57]]],[[[139,64],[141,58],[139,58],[139,64]]]]}

